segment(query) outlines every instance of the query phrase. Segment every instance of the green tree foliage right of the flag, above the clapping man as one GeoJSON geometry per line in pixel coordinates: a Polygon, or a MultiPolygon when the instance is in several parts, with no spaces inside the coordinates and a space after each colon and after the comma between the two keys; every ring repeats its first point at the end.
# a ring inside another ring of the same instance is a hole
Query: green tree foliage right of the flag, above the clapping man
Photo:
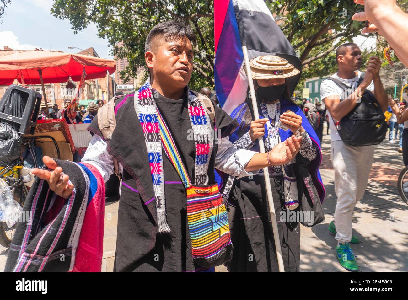
{"type": "MultiPolygon", "coordinates": [[[[304,80],[323,77],[337,71],[335,49],[361,34],[364,22],[351,20],[364,7],[348,0],[267,0],[271,12],[280,19],[280,27],[302,62],[303,73],[297,90],[301,90],[304,80]]],[[[402,9],[407,9],[407,1],[399,1],[402,9]]],[[[368,34],[377,36],[377,34],[368,34]]],[[[382,56],[386,42],[377,38],[376,49],[364,51],[368,56],[382,56]]],[[[382,58],[381,58],[382,59],[382,58]]]]}

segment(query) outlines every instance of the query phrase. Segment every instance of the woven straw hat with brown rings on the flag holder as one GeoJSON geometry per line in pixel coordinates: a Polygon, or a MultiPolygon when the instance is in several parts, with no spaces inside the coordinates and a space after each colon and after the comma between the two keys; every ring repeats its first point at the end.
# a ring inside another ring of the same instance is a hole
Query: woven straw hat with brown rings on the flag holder
{"type": "Polygon", "coordinates": [[[249,61],[253,79],[287,78],[300,73],[286,59],[275,55],[264,55],[249,61]]]}

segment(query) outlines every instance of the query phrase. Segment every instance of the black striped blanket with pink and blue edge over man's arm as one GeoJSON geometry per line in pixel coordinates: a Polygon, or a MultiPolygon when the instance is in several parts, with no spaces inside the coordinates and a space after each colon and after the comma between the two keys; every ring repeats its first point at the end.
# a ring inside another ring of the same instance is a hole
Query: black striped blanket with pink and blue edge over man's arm
{"type": "Polygon", "coordinates": [[[75,186],[73,193],[64,199],[35,178],[23,208],[31,218],[18,222],[4,271],[101,270],[103,179],[89,164],[55,161],[75,186]]]}

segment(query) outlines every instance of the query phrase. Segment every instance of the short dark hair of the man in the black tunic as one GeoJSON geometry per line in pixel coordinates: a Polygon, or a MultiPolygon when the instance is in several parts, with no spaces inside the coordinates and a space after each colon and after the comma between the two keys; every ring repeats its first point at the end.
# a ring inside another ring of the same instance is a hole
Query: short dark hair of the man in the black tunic
{"type": "Polygon", "coordinates": [[[154,51],[153,49],[153,39],[156,36],[163,35],[164,40],[169,42],[177,38],[182,38],[186,36],[190,40],[191,44],[195,44],[196,38],[188,25],[187,21],[184,20],[171,20],[162,22],[155,25],[149,34],[147,35],[146,42],[144,43],[144,53],[147,51],[154,51]]]}

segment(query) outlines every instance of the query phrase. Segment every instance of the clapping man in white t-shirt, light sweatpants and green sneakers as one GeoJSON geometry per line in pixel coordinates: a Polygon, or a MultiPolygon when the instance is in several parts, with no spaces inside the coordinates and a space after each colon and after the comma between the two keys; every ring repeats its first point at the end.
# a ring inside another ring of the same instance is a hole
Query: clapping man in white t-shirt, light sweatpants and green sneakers
{"type": "Polygon", "coordinates": [[[360,84],[362,64],[361,51],[354,43],[342,44],[337,48],[336,61],[338,72],[331,76],[340,80],[351,89],[348,97],[340,101],[345,92],[333,80],[324,80],[320,87],[320,96],[327,107],[330,119],[331,160],[335,170],[335,191],[337,205],[329,231],[336,234],[336,256],[340,264],[352,271],[358,270],[355,255],[349,242],[358,244],[357,237],[352,235],[352,217],[354,207],[364,196],[371,165],[374,159],[375,146],[352,147],[344,144],[337,131],[339,120],[344,118],[356,106],[357,100],[364,91],[374,93],[383,112],[388,108],[387,95],[379,77],[381,61],[371,57],[367,62],[366,75],[360,84]]]}

